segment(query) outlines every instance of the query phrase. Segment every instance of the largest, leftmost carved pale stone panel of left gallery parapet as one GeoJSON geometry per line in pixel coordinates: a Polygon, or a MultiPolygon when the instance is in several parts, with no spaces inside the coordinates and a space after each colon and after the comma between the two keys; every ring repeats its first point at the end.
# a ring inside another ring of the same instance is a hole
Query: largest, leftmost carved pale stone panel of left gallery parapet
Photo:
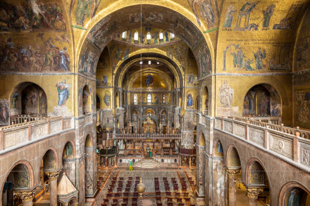
{"type": "Polygon", "coordinates": [[[27,129],[6,132],[4,135],[4,149],[27,141],[27,129]]]}

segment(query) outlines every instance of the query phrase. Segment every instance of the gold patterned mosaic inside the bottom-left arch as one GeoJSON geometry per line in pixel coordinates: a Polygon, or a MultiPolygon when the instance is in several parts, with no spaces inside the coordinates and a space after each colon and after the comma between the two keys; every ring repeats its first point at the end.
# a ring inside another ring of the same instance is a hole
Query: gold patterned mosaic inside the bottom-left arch
{"type": "Polygon", "coordinates": [[[11,171],[14,176],[14,185],[15,188],[29,188],[30,187],[30,175],[28,168],[23,165],[19,164],[14,167],[11,171]]]}

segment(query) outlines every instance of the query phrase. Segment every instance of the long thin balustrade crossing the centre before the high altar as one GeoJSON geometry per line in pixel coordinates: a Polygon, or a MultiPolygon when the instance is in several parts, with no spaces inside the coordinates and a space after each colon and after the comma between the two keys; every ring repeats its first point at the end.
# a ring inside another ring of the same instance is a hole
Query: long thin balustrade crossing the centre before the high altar
{"type": "Polygon", "coordinates": [[[181,139],[181,134],[117,134],[116,139],[181,139]]]}

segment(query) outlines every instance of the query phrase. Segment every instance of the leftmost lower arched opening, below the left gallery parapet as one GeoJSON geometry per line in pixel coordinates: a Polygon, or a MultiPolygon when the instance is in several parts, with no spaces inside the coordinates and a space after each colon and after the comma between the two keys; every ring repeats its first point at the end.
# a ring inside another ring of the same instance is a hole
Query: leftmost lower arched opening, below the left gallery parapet
{"type": "MultiPolygon", "coordinates": [[[[21,196],[19,196],[19,192],[16,192],[16,190],[27,190],[32,186],[32,178],[30,176],[31,171],[29,171],[31,168],[29,167],[20,163],[17,164],[8,174],[2,189],[2,205],[13,206],[25,201],[25,199],[22,199],[21,196]],[[14,196],[14,193],[17,195],[14,196]]],[[[30,200],[32,204],[32,198],[30,200]]]]}

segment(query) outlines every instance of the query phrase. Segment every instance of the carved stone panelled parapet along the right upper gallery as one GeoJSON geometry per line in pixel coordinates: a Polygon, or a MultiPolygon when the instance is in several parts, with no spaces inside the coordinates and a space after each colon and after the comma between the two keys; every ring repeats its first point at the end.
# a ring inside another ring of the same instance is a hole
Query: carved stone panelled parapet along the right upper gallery
{"type": "Polygon", "coordinates": [[[240,120],[244,119],[216,117],[214,129],[232,134],[261,147],[263,150],[276,154],[284,161],[291,160],[297,166],[310,171],[310,140],[300,137],[299,131],[289,134],[280,129],[270,128],[267,123],[240,120]]]}

